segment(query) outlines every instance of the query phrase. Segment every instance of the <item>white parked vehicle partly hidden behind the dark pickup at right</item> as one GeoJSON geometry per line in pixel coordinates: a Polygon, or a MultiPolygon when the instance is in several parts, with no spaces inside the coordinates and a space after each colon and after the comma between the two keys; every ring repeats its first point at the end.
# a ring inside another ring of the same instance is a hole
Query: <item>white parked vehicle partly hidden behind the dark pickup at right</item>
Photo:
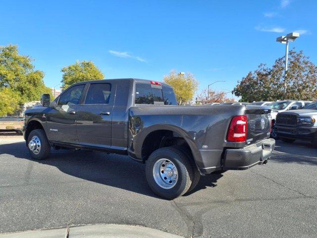
{"type": "Polygon", "coordinates": [[[306,104],[311,103],[310,101],[301,101],[301,100],[285,100],[277,101],[270,104],[271,117],[272,117],[272,131],[271,138],[277,139],[278,135],[275,131],[275,120],[278,113],[286,112],[289,110],[300,110],[305,107],[306,104]]]}

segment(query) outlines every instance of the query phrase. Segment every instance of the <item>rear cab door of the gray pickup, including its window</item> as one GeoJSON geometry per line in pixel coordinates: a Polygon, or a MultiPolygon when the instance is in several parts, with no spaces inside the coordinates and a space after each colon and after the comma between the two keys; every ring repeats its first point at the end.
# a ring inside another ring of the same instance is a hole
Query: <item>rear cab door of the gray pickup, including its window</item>
{"type": "Polygon", "coordinates": [[[81,145],[111,146],[112,110],[116,83],[90,83],[84,103],[78,107],[77,134],[81,145]]]}

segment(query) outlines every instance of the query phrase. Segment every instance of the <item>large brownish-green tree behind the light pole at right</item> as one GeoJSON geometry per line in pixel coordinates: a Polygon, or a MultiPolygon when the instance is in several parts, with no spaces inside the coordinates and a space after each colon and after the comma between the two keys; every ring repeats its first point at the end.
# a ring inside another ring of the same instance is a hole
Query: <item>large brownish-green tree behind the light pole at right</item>
{"type": "Polygon", "coordinates": [[[289,52],[289,67],[284,75],[285,57],[271,68],[260,64],[234,88],[242,101],[275,101],[281,99],[317,100],[317,66],[302,51],[289,52]],[[287,85],[285,88],[285,84],[287,85]]]}

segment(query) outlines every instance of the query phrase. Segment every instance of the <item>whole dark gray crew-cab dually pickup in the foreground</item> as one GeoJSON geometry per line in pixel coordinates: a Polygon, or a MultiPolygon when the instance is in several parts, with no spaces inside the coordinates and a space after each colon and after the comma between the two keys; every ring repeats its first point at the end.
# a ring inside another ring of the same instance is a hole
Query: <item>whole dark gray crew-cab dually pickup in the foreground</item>
{"type": "Polygon", "coordinates": [[[32,158],[47,158],[51,147],[128,155],[146,164],[150,187],[167,199],[201,175],[266,164],[275,146],[270,108],[177,106],[173,89],[157,81],[80,82],[53,102],[42,95],[42,105],[25,112],[32,158]]]}

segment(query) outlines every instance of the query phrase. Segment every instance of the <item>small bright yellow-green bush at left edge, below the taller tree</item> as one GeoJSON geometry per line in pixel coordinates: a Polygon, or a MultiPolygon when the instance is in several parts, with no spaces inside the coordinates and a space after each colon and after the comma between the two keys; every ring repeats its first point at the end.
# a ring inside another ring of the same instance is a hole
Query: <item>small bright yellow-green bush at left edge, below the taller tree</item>
{"type": "Polygon", "coordinates": [[[17,92],[8,87],[0,90],[0,116],[14,114],[20,109],[21,98],[17,92]]]}

